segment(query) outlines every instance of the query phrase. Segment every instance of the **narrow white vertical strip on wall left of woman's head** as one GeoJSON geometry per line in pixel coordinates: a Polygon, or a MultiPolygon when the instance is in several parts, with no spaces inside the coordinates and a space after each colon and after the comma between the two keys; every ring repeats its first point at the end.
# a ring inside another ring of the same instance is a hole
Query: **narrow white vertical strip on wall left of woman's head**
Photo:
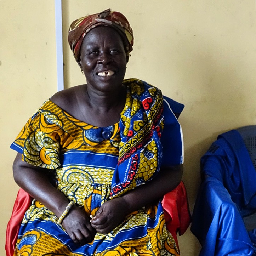
{"type": "Polygon", "coordinates": [[[57,89],[64,89],[61,0],[55,0],[57,89]]]}

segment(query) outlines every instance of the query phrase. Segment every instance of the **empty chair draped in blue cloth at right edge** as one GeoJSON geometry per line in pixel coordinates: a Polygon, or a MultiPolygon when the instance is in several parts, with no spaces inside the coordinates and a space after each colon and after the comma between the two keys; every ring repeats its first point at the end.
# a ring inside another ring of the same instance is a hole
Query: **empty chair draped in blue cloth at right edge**
{"type": "Polygon", "coordinates": [[[256,255],[256,125],[219,135],[201,177],[191,225],[199,255],[256,255]]]}

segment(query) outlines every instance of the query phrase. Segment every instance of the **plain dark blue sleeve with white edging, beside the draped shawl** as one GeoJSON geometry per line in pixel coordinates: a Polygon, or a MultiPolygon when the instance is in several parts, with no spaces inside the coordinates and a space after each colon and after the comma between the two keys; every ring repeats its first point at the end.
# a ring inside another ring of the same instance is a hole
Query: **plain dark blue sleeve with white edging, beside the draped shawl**
{"type": "Polygon", "coordinates": [[[162,166],[183,164],[184,147],[181,125],[176,116],[184,105],[164,97],[164,129],[161,135],[163,146],[162,166]],[[175,110],[175,113],[173,111],[175,110]],[[176,113],[177,112],[177,113],[176,113]]]}

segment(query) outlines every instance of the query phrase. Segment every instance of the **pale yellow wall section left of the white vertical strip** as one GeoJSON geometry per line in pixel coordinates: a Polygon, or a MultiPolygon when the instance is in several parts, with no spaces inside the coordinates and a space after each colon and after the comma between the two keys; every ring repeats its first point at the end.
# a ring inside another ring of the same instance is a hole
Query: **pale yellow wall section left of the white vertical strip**
{"type": "Polygon", "coordinates": [[[18,186],[9,148],[35,110],[57,91],[54,1],[0,1],[0,255],[18,186]]]}

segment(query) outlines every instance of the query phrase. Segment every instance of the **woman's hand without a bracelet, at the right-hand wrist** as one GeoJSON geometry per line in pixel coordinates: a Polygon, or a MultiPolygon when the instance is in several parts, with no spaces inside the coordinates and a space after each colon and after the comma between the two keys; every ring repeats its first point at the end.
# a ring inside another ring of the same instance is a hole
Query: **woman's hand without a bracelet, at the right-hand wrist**
{"type": "Polygon", "coordinates": [[[122,197],[106,201],[91,220],[91,225],[102,234],[108,234],[117,227],[128,212],[125,211],[125,200],[122,197]]]}

